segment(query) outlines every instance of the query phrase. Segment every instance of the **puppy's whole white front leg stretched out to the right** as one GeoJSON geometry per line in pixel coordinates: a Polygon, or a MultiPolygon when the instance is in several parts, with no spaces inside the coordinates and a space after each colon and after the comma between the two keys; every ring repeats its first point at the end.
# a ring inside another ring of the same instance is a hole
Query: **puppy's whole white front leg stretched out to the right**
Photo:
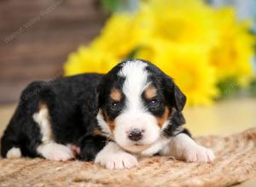
{"type": "Polygon", "coordinates": [[[161,154],[201,163],[212,162],[215,157],[212,150],[195,143],[186,133],[179,133],[173,137],[170,144],[162,150],[161,154]]]}

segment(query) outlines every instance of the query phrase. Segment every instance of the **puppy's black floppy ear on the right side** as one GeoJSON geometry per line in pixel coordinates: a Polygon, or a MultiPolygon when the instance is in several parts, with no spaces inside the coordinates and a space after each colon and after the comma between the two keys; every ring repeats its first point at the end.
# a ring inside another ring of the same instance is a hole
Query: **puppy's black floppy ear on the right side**
{"type": "Polygon", "coordinates": [[[174,106],[178,112],[183,111],[184,105],[186,104],[186,96],[172,81],[171,77],[165,76],[164,87],[167,102],[171,106],[174,106]]]}

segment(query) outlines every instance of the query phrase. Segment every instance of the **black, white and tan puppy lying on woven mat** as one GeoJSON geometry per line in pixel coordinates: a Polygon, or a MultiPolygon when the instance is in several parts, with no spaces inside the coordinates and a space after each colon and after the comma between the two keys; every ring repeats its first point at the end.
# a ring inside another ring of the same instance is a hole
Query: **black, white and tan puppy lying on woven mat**
{"type": "Polygon", "coordinates": [[[108,169],[137,166],[138,156],[212,162],[212,150],[182,127],[186,97],[171,77],[142,59],[106,75],[32,82],[1,141],[3,157],[77,157],[108,169]]]}

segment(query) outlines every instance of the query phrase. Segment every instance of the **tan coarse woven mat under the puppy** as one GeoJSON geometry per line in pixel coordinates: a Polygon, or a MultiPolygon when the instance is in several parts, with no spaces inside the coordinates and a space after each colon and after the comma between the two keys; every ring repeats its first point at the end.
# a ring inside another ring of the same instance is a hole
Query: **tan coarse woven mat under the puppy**
{"type": "Polygon", "coordinates": [[[256,176],[256,128],[196,140],[215,151],[213,164],[155,156],[130,170],[109,171],[83,161],[3,159],[0,186],[227,186],[256,176]]]}

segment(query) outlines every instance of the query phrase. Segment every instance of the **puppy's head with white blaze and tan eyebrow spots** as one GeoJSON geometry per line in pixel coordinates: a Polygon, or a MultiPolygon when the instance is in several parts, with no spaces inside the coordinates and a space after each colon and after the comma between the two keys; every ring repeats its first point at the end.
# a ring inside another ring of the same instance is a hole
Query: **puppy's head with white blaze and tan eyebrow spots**
{"type": "Polygon", "coordinates": [[[186,98],[155,65],[135,59],[116,65],[98,87],[102,131],[131,152],[147,149],[184,123],[186,98]]]}

